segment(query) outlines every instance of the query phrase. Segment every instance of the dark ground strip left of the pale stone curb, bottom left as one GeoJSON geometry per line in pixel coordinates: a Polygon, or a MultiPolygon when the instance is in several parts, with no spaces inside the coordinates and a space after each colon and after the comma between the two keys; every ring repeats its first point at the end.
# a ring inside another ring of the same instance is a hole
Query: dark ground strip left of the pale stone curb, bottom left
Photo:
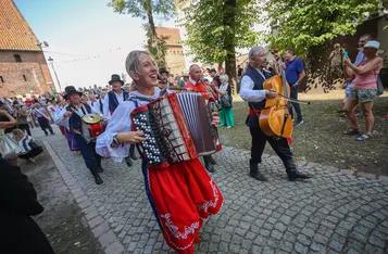
{"type": "MultiPolygon", "coordinates": [[[[38,131],[34,131],[39,134],[38,131]]],[[[95,238],[70,189],[55,168],[47,151],[36,157],[36,163],[20,160],[18,166],[28,176],[38,193],[43,213],[35,220],[43,230],[55,253],[101,254],[98,239],[95,238]]]]}

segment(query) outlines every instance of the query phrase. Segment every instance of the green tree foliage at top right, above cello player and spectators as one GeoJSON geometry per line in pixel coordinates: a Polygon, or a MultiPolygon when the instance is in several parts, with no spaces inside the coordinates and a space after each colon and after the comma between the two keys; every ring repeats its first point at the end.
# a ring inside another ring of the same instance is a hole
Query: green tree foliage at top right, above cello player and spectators
{"type": "Polygon", "coordinates": [[[266,40],[281,49],[305,53],[338,36],[353,35],[355,28],[378,10],[381,0],[267,0],[261,22],[277,29],[266,40]],[[270,21],[270,22],[268,22],[270,21]]]}

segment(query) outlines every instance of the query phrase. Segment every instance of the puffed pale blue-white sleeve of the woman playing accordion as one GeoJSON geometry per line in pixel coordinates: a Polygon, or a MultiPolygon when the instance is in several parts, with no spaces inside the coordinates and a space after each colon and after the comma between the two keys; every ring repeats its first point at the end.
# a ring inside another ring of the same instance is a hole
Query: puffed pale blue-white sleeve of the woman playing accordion
{"type": "Polygon", "coordinates": [[[112,157],[113,162],[122,162],[128,156],[130,144],[121,144],[111,148],[113,137],[120,132],[132,131],[130,113],[135,110],[132,101],[124,101],[118,104],[110,119],[105,131],[97,138],[96,152],[104,157],[112,157]]]}

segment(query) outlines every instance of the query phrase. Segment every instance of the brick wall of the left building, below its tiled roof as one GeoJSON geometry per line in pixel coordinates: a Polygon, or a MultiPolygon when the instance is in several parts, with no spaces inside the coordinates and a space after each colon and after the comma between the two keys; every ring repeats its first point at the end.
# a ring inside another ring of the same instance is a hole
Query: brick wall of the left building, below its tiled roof
{"type": "Polygon", "coordinates": [[[1,97],[23,96],[30,91],[41,94],[50,91],[38,63],[0,63],[0,77],[1,97]]]}

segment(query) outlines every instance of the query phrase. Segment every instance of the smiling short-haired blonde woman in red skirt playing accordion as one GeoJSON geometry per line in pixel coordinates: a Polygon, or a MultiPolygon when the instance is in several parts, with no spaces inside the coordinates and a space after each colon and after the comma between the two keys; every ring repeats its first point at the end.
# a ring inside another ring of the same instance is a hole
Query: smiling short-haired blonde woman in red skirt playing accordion
{"type": "Polygon", "coordinates": [[[126,69],[134,90],[98,137],[96,150],[120,162],[130,145],[141,143],[146,192],[163,237],[177,253],[193,253],[203,219],[218,213],[224,199],[198,160],[189,126],[177,106],[180,99],[175,93],[160,98],[151,56],[146,51],[130,52],[126,69]],[[160,129],[153,126],[158,124],[160,129]]]}

